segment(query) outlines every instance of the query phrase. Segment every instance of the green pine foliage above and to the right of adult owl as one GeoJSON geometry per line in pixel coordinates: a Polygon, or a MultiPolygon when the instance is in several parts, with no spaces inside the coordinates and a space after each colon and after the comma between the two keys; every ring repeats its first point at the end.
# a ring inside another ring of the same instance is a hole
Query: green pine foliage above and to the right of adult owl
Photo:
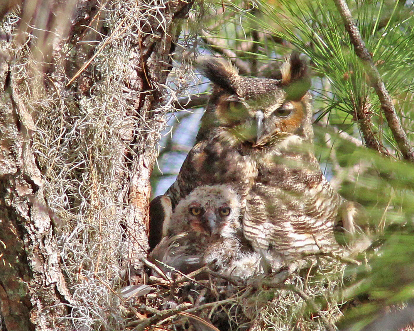
{"type": "MultiPolygon", "coordinates": [[[[345,312],[341,327],[360,330],[380,309],[414,296],[414,165],[401,161],[366,67],[333,1],[223,0],[205,5],[201,53],[229,57],[241,74],[277,77],[279,61],[293,50],[310,59],[321,168],[344,197],[366,207],[373,237],[380,237],[381,245],[368,254],[368,262],[346,274],[346,299],[368,300],[345,312]]],[[[402,127],[414,141],[414,5],[391,0],[348,5],[402,127]]]]}

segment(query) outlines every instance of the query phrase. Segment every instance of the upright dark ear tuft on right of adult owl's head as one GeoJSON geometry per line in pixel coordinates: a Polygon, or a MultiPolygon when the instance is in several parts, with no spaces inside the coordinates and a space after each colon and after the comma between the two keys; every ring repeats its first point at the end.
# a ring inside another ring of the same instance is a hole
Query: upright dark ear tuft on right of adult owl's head
{"type": "Polygon", "coordinates": [[[282,86],[289,100],[300,100],[310,89],[310,73],[308,61],[301,58],[299,53],[286,57],[280,67],[282,86]]]}

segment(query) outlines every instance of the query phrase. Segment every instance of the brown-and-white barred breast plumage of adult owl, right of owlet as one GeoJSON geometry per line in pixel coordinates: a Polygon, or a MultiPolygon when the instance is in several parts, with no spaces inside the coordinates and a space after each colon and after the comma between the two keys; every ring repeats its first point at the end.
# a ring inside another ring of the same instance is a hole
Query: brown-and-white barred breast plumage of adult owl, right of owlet
{"type": "Polygon", "coordinates": [[[339,248],[333,225],[343,199],[313,154],[305,159],[293,154],[260,164],[243,217],[243,235],[256,251],[294,256],[339,248]]]}

